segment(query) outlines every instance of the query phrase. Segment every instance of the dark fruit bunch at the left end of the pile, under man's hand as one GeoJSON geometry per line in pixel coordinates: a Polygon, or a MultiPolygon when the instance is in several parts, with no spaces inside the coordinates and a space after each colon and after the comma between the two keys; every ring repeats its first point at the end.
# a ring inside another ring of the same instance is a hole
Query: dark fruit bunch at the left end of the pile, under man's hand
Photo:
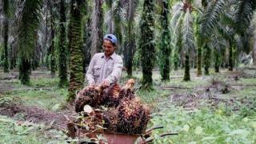
{"type": "Polygon", "coordinates": [[[90,105],[92,107],[98,107],[102,104],[102,86],[95,86],[93,88],[85,87],[80,90],[74,100],[75,111],[81,112],[83,106],[90,105]]]}

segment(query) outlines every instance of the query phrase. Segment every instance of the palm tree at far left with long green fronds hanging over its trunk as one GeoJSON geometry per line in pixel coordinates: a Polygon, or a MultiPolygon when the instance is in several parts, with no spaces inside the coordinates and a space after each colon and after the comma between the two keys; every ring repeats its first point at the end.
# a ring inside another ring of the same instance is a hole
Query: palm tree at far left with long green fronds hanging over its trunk
{"type": "Polygon", "coordinates": [[[37,29],[41,22],[42,0],[22,1],[18,19],[19,78],[30,84],[30,58],[34,54],[37,29]]]}

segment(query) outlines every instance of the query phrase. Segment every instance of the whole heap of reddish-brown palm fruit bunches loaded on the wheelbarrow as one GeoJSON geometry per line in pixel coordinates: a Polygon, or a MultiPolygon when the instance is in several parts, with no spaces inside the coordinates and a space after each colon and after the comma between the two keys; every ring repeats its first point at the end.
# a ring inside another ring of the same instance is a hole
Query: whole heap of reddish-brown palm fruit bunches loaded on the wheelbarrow
{"type": "Polygon", "coordinates": [[[96,130],[97,126],[102,126],[106,128],[106,132],[144,133],[150,120],[150,108],[135,96],[134,83],[134,79],[130,79],[122,88],[118,84],[113,84],[104,90],[102,86],[81,90],[75,101],[77,112],[81,112],[86,105],[94,109],[102,109],[98,110],[98,113],[94,112],[80,119],[82,129],[96,130]]]}

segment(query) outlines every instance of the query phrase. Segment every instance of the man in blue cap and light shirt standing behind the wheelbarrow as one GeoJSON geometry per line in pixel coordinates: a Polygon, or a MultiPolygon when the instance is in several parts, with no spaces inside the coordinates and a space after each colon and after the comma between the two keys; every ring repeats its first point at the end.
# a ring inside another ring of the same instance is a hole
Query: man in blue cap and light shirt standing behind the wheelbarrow
{"type": "Polygon", "coordinates": [[[106,34],[102,45],[104,53],[94,54],[86,73],[89,87],[98,84],[107,87],[121,78],[123,64],[121,56],[115,54],[116,47],[114,34],[106,34]]]}

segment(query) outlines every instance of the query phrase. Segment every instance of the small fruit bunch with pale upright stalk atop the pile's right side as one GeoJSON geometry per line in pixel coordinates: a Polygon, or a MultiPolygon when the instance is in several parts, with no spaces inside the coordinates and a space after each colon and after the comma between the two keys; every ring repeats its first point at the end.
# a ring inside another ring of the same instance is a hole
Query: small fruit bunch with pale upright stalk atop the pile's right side
{"type": "Polygon", "coordinates": [[[126,85],[122,86],[119,98],[134,98],[134,83],[135,80],[133,78],[129,79],[126,85]]]}

